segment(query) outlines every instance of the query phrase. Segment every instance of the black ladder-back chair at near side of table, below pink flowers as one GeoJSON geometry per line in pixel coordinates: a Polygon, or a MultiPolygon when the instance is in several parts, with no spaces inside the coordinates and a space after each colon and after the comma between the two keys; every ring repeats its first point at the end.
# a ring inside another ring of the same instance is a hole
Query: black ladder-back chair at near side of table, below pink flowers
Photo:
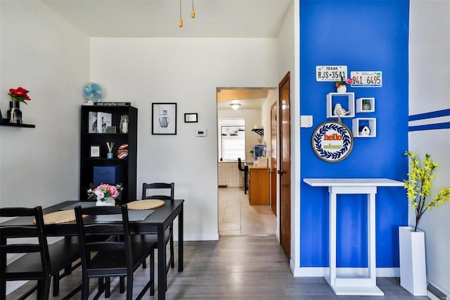
{"type": "MultiPolygon", "coordinates": [[[[127,277],[127,300],[141,299],[150,288],[150,296],[155,294],[155,242],[134,242],[129,230],[127,205],[101,207],[75,207],[77,232],[82,257],[82,299],[89,296],[89,278],[104,278],[105,284],[98,287],[95,299],[103,292],[110,293],[110,277],[120,277],[120,292],[124,291],[123,278],[127,277]],[[121,222],[102,222],[102,216],[117,215],[121,222]],[[116,239],[91,242],[91,237],[110,237],[116,239]],[[139,296],[133,297],[133,274],[150,256],[150,277],[139,296]]],[[[99,280],[99,283],[103,280],[99,280]]]]}

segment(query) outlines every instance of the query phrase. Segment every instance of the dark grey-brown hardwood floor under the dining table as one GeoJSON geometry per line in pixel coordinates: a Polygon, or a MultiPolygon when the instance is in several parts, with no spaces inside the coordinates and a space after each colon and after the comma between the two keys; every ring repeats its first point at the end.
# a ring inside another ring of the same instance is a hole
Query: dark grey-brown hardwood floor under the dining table
{"type": "MultiPolygon", "coordinates": [[[[378,278],[378,287],[385,296],[335,296],[323,277],[293,277],[288,259],[274,236],[226,236],[219,241],[185,242],[184,261],[184,272],[178,273],[176,265],[169,270],[167,299],[428,299],[411,296],[400,287],[399,278],[378,278]]],[[[134,273],[136,295],[147,277],[148,269],[140,268],[134,273]]],[[[80,268],[61,280],[60,296],[50,299],[60,299],[79,282],[80,268]]],[[[91,280],[90,299],[95,289],[96,281],[91,280]]],[[[125,298],[119,293],[117,279],[112,280],[111,289],[111,300],[125,298]]],[[[22,287],[6,299],[18,299],[25,290],[22,287]]],[[[158,292],[149,295],[143,299],[158,299],[158,292]]],[[[78,293],[73,299],[79,297],[78,293]]],[[[36,299],[35,294],[29,299],[36,299]]],[[[104,295],[100,299],[105,299],[104,295]]]]}

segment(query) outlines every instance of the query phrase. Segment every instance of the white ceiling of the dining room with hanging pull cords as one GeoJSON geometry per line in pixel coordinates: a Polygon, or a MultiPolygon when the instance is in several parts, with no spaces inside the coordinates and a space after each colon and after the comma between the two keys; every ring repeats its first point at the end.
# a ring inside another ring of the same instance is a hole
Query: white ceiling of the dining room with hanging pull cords
{"type": "Polygon", "coordinates": [[[293,0],[42,1],[89,37],[276,38],[293,0]]]}

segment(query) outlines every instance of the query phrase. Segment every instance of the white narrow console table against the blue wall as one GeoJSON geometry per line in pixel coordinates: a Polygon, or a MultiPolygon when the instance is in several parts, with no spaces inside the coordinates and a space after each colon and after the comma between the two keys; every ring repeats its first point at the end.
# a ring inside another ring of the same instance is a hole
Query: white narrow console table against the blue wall
{"type": "Polygon", "coordinates": [[[311,187],[328,187],[330,194],[330,268],[325,277],[336,295],[383,296],[376,285],[375,194],[377,187],[403,187],[403,182],[386,178],[304,178],[311,187]],[[336,276],[336,195],[367,194],[367,276],[336,276]]]}

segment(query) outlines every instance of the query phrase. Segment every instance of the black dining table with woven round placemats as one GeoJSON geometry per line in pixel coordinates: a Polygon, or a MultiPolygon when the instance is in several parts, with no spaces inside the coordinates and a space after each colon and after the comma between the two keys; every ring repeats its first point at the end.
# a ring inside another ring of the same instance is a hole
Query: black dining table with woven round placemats
{"type": "MultiPolygon", "coordinates": [[[[64,201],[60,204],[43,208],[43,213],[53,213],[60,211],[61,208],[73,206],[79,201],[64,201]]],[[[154,208],[153,213],[148,215],[144,220],[130,221],[129,229],[133,235],[158,235],[158,299],[166,298],[166,244],[165,244],[165,230],[172,224],[176,217],[178,217],[178,271],[183,271],[183,199],[176,199],[173,201],[165,201],[165,205],[159,208],[154,208]]],[[[0,225],[23,224],[24,218],[20,217],[0,225]]],[[[32,218],[30,218],[32,222],[32,218]]],[[[46,235],[52,237],[70,237],[77,235],[77,223],[66,222],[57,224],[46,224],[46,235]]]]}

